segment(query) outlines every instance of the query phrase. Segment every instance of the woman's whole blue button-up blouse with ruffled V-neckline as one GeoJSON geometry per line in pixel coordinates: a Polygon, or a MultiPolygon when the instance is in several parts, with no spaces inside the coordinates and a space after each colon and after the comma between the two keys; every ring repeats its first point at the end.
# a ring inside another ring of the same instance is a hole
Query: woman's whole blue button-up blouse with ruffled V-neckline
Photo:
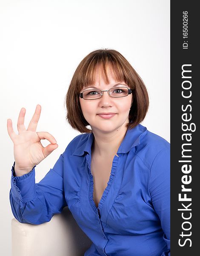
{"type": "Polygon", "coordinates": [[[143,125],[128,129],[98,208],[93,200],[94,134],[75,137],[46,176],[14,177],[10,203],[21,223],[41,224],[68,206],[91,239],[84,256],[170,255],[170,144],[143,125]]]}

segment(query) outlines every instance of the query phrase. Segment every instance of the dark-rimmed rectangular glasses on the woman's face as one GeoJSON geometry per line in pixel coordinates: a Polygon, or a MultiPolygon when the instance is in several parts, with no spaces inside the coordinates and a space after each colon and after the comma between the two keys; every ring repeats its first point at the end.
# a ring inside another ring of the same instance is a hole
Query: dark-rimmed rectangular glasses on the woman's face
{"type": "Polygon", "coordinates": [[[132,90],[127,87],[114,87],[109,90],[91,89],[84,90],[83,93],[79,93],[78,96],[82,99],[100,99],[103,96],[103,92],[109,92],[109,96],[113,98],[120,98],[131,94],[132,90]]]}

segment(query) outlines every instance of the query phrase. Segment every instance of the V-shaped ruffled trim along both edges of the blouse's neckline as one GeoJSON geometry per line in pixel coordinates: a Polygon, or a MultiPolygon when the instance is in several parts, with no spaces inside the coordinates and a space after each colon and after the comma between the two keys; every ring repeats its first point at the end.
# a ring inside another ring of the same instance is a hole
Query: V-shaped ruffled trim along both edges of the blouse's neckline
{"type": "Polygon", "coordinates": [[[115,155],[114,159],[113,159],[113,162],[112,162],[111,174],[110,174],[110,177],[109,177],[109,181],[107,183],[107,187],[103,192],[102,198],[100,199],[100,202],[99,202],[99,205],[98,205],[98,208],[97,208],[95,203],[94,203],[94,199],[93,199],[94,181],[93,181],[93,175],[91,174],[91,169],[90,169],[91,156],[89,154],[86,155],[86,161],[88,163],[88,168],[89,168],[89,202],[90,202],[90,205],[91,205],[92,209],[97,214],[98,214],[98,209],[102,209],[103,203],[106,200],[106,197],[107,197],[108,192],[110,190],[110,187],[112,185],[112,182],[113,182],[113,179],[114,179],[114,176],[115,176],[115,172],[116,172],[116,169],[117,169],[118,159],[119,159],[119,157],[117,157],[115,155]]]}

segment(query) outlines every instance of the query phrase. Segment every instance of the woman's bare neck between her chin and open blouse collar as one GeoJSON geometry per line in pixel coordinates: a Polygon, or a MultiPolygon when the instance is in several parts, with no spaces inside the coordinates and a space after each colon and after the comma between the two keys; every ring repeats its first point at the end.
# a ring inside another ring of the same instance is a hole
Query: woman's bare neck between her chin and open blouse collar
{"type": "Polygon", "coordinates": [[[94,134],[94,143],[92,144],[92,154],[99,157],[112,157],[117,154],[118,148],[123,141],[127,131],[126,122],[109,134],[101,133],[92,129],[94,134]]]}

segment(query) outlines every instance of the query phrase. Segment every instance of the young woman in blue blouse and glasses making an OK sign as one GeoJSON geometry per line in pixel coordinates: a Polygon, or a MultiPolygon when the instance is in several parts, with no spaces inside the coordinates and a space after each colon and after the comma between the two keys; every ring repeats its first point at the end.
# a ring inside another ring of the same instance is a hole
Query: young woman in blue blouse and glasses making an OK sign
{"type": "Polygon", "coordinates": [[[35,167],[58,145],[36,132],[40,105],[27,130],[21,109],[18,135],[8,119],[14,217],[41,224],[68,206],[93,242],[84,256],[170,255],[170,145],[140,124],[148,107],[146,87],[123,55],[89,53],[66,94],[66,119],[81,134],[36,184],[35,167]],[[51,144],[44,148],[42,139],[51,144]]]}

